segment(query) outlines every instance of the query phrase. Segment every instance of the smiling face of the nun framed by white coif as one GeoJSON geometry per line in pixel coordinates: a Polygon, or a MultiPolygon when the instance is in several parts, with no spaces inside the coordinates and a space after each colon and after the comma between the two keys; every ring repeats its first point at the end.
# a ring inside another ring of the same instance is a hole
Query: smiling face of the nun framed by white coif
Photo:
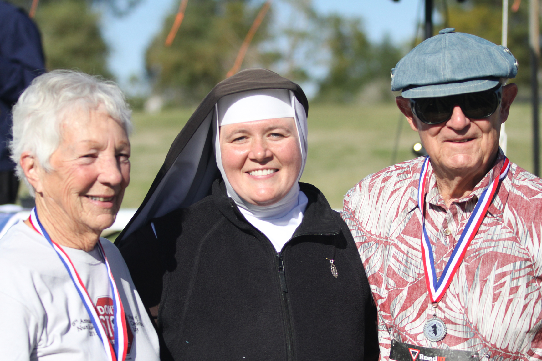
{"type": "Polygon", "coordinates": [[[273,205],[284,198],[301,169],[293,118],[224,125],[220,127],[220,152],[231,187],[257,206],[273,205]]]}

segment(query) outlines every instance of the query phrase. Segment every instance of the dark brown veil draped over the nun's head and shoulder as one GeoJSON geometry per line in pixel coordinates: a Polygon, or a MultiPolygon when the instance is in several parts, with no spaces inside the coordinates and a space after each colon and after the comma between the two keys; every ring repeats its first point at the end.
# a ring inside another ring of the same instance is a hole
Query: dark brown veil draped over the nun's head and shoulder
{"type": "Polygon", "coordinates": [[[290,90],[303,107],[295,111],[305,111],[308,115],[307,97],[301,87],[273,71],[250,68],[218,83],[173,141],[143,203],[117,238],[118,241],[124,240],[152,218],[189,207],[211,193],[212,183],[221,177],[213,151],[212,118],[215,104],[223,96],[259,89],[290,90]]]}

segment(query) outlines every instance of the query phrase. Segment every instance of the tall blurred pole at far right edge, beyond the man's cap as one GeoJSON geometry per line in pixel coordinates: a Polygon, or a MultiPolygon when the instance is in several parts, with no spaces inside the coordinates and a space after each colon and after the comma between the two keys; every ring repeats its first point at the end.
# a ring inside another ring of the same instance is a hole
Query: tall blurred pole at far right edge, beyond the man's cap
{"type": "Polygon", "coordinates": [[[538,0],[529,1],[529,44],[531,52],[531,96],[533,107],[533,173],[540,176],[540,141],[538,126],[538,59],[540,34],[538,27],[538,0]]]}

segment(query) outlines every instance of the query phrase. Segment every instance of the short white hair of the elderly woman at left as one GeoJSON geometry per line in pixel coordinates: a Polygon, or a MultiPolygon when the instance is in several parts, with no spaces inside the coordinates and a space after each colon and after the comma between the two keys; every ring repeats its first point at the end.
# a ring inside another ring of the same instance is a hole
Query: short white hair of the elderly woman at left
{"type": "Polygon", "coordinates": [[[62,140],[61,124],[69,122],[66,114],[75,109],[95,110],[100,106],[130,135],[132,111],[112,81],[78,71],[53,70],[36,77],[23,91],[12,109],[13,140],[9,148],[17,176],[27,183],[32,195],[34,189],[20,164],[22,153],[35,156],[40,166],[49,172],[52,169],[49,158],[62,140]]]}

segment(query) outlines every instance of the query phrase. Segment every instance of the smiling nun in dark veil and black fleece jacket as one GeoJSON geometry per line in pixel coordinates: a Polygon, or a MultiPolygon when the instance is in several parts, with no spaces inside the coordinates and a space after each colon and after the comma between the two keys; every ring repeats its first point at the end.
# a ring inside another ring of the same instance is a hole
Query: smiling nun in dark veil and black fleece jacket
{"type": "Polygon", "coordinates": [[[117,246],[162,360],[376,360],[376,309],[339,213],[300,182],[308,102],[265,69],[220,82],[117,246]]]}

